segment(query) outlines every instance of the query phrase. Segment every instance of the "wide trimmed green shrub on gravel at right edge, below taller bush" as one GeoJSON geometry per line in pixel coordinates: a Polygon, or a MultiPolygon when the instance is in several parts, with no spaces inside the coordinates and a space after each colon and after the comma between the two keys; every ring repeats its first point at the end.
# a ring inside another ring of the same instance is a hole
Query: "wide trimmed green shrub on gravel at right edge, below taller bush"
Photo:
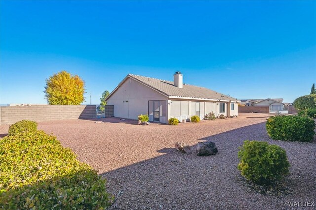
{"type": "Polygon", "coordinates": [[[268,135],[274,140],[313,141],[315,122],[301,116],[273,116],[266,123],[268,135]]]}

